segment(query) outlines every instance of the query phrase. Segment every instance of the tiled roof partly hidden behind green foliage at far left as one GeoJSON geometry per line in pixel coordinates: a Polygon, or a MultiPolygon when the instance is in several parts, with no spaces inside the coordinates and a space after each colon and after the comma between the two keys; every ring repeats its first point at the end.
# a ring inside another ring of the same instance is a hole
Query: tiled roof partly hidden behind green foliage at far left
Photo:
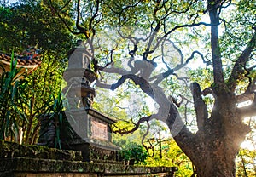
{"type": "MultiPolygon", "coordinates": [[[[15,56],[15,59],[17,59],[17,65],[20,66],[39,66],[41,64],[41,60],[39,60],[37,57],[35,57],[34,59],[28,60],[28,59],[23,59],[23,58],[19,58],[17,56],[15,56]]],[[[10,63],[11,61],[11,57],[7,54],[1,54],[0,53],[0,61],[7,61],[10,63]]]]}

